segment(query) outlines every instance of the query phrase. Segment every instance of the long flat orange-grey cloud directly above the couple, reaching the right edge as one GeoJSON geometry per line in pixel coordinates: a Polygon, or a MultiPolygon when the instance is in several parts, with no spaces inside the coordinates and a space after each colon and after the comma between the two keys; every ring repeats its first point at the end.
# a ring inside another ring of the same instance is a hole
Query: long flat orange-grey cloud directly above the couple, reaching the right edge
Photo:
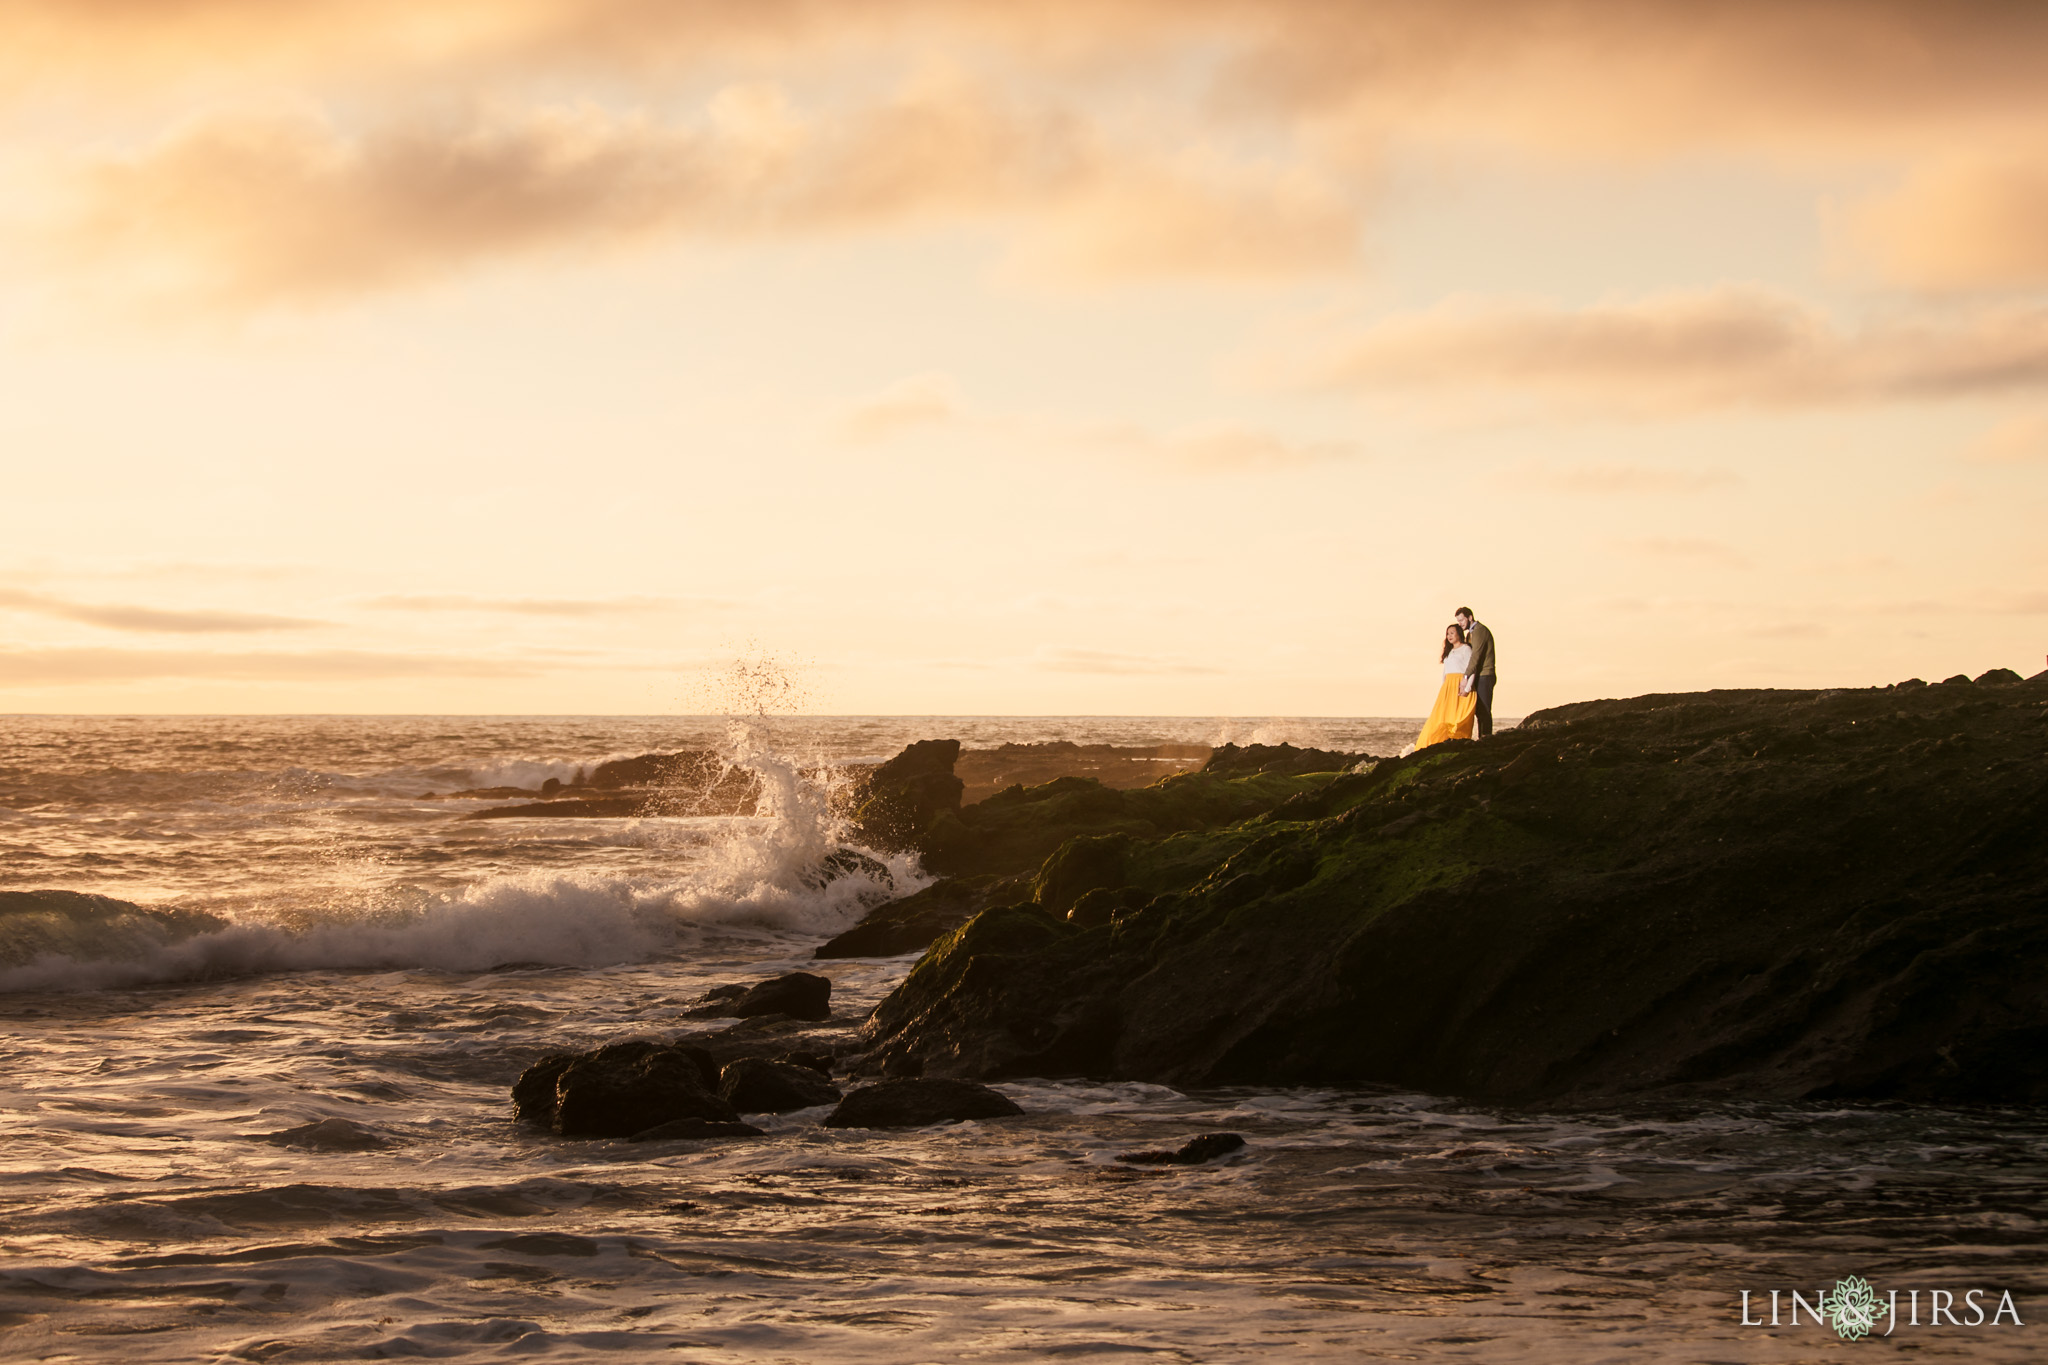
{"type": "Polygon", "coordinates": [[[1751,289],[1585,309],[1460,301],[1294,364],[1327,389],[1493,389],[1616,413],[1939,399],[2048,381],[2048,309],[1845,329],[1751,289]]]}

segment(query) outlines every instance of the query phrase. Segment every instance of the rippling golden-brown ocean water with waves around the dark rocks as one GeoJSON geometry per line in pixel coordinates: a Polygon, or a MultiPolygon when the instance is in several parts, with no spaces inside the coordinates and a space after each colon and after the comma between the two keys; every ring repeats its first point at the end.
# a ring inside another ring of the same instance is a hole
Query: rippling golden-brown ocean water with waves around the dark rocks
{"type": "Polygon", "coordinates": [[[885,894],[807,876],[842,837],[819,763],[924,737],[1391,753],[1413,729],[0,720],[0,890],[160,913],[0,917],[0,1359],[2040,1359],[2040,1111],[1024,1081],[1022,1119],[924,1132],[819,1109],[752,1142],[565,1142],[512,1117],[543,1052],[723,1027],[684,1017],[713,984],[817,966],[858,1019],[903,978],[809,956],[885,894]],[[762,776],[762,814],[426,798],[698,745],[762,776]],[[266,1140],[322,1119],[387,1146],[266,1140]],[[1116,1160],[1219,1130],[1245,1150],[1116,1160]],[[1769,1326],[1774,1289],[1845,1275],[1919,1322],[1769,1326]],[[1991,1322],[2001,1291],[2021,1324],[1991,1322]]]}

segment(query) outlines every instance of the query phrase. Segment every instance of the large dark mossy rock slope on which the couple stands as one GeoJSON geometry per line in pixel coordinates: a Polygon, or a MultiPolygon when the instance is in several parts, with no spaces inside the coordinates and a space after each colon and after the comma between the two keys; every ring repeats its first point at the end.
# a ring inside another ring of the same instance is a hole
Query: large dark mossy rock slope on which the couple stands
{"type": "Polygon", "coordinates": [[[1040,798],[1126,843],[940,939],[862,1066],[2048,1101],[2048,677],[1583,702],[1237,782],[1300,786],[1180,833],[1040,798]]]}

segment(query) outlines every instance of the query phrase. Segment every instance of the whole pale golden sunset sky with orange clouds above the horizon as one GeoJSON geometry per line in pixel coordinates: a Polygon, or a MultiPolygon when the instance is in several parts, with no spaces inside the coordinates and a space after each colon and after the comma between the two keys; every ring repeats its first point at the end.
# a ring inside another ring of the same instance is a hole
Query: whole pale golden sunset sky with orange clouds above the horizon
{"type": "Polygon", "coordinates": [[[2048,6],[0,0],[0,710],[2040,671],[2048,6]]]}

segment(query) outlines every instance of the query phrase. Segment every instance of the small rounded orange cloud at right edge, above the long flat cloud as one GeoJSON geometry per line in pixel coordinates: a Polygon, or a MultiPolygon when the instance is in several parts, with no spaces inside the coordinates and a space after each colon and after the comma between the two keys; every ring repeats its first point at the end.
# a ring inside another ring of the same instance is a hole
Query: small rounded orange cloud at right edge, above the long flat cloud
{"type": "Polygon", "coordinates": [[[1866,205],[1849,235],[1915,289],[2048,284],[2048,156],[1921,170],[1866,205]]]}

